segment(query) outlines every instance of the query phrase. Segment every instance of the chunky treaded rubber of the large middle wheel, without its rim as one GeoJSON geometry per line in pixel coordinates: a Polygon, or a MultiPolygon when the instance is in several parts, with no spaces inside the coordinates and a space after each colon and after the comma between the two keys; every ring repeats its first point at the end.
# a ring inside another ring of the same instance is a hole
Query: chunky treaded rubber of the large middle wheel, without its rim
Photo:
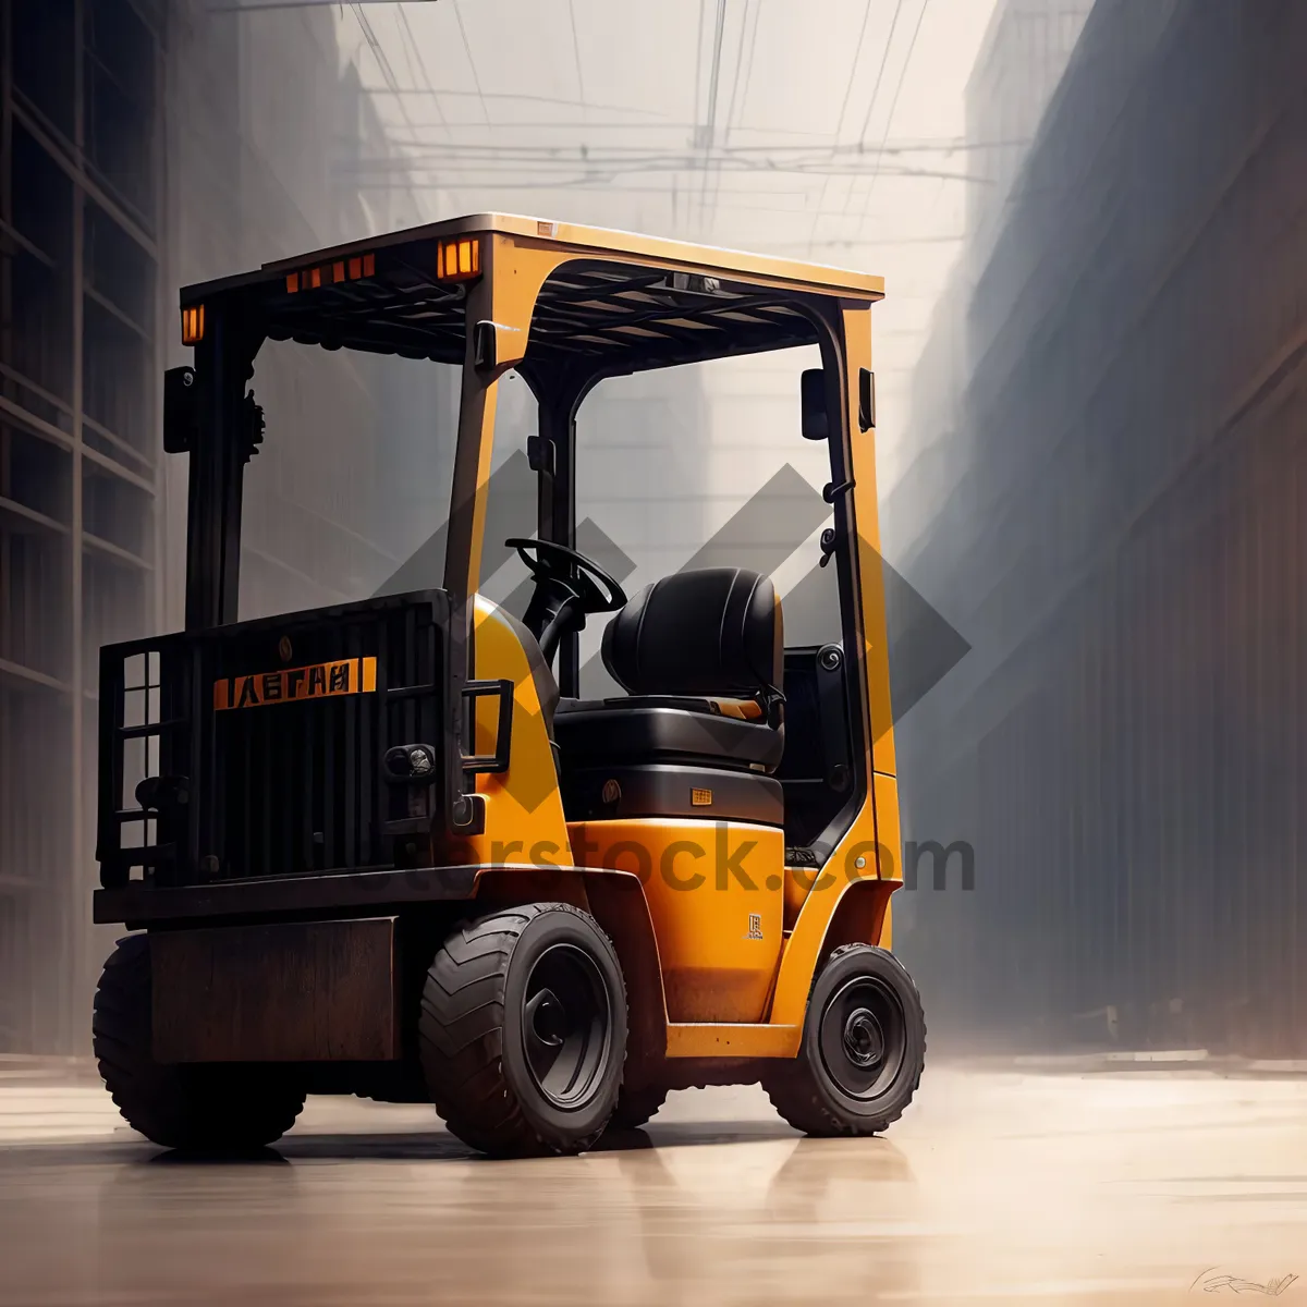
{"type": "Polygon", "coordinates": [[[567,903],[528,903],[457,927],[427,971],[418,1047],[431,1100],[465,1144],[495,1157],[584,1151],[613,1115],[626,1059],[626,985],[612,942],[567,903]],[[527,987],[549,950],[588,958],[606,1008],[595,1067],[565,1106],[541,1089],[527,1051],[527,987]]]}

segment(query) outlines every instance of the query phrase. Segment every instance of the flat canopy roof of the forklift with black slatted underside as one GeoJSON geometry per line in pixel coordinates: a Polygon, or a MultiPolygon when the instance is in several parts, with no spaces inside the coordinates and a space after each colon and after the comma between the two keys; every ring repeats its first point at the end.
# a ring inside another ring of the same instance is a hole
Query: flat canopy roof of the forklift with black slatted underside
{"type": "Polygon", "coordinates": [[[182,306],[240,299],[273,340],[460,363],[468,284],[438,276],[439,250],[494,233],[574,256],[546,280],[536,305],[528,358],[542,366],[588,356],[583,366],[613,374],[806,345],[817,332],[804,301],[884,295],[880,277],[859,272],[474,214],[188,286],[182,306]]]}

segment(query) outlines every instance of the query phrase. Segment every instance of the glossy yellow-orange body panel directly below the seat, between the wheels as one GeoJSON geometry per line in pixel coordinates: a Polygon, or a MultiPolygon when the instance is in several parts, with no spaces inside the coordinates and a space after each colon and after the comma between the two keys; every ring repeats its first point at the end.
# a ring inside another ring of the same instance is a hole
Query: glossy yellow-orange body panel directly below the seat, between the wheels
{"type": "Polygon", "coordinates": [[[744,822],[643,818],[570,827],[582,867],[635,872],[670,1022],[758,1022],[782,944],[784,835],[744,822]]]}

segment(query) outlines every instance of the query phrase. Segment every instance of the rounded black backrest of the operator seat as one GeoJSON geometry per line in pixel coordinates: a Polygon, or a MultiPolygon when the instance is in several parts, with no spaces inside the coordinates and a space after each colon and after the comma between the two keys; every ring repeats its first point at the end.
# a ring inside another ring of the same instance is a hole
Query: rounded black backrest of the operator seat
{"type": "Polygon", "coordinates": [[[604,631],[627,694],[779,697],[784,634],[769,576],[704,567],[646,586],[604,631]]]}

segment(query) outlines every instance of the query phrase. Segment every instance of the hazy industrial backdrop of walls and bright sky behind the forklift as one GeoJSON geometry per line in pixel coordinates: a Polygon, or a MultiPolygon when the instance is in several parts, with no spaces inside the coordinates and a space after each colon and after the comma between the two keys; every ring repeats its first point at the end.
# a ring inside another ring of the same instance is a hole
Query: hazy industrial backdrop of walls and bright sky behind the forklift
{"type": "MultiPolygon", "coordinates": [[[[831,0],[825,77],[786,76],[797,5],[256,8],[0,3],[0,1052],[86,1044],[95,650],[179,621],[176,288],[486,208],[886,274],[885,553],[971,644],[899,724],[906,834],[976,855],[899,895],[932,1025],[1303,1052],[1300,4],[831,0]],[[957,123],[927,50],[972,68],[957,123]]],[[[452,393],[387,362],[260,359],[243,609],[380,586],[438,525],[409,473],[447,474],[452,393]]],[[[651,386],[589,417],[635,582],[818,476],[788,365],[651,386]]]]}

